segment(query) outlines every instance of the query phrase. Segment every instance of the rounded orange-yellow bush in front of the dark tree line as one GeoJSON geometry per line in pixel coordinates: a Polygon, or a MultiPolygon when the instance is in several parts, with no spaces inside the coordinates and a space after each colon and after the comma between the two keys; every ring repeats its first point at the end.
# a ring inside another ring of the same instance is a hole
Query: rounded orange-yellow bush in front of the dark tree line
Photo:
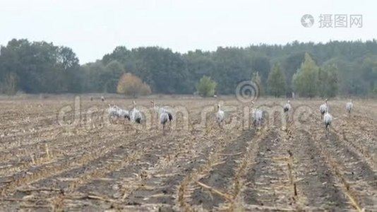
{"type": "Polygon", "coordinates": [[[116,92],[124,95],[132,95],[134,98],[139,95],[150,95],[152,93],[146,83],[143,83],[138,76],[131,73],[124,73],[121,76],[116,92]]]}

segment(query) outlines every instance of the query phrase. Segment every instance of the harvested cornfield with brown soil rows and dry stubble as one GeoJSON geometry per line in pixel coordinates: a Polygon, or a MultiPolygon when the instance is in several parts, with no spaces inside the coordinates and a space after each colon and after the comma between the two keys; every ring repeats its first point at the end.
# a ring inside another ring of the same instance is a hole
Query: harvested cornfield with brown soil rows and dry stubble
{"type": "Polygon", "coordinates": [[[283,99],[161,98],[166,131],[150,99],[140,125],[107,117],[131,102],[0,100],[0,211],[377,211],[376,101],[349,117],[329,100],[328,138],[322,100],[292,100],[285,122],[283,99]]]}

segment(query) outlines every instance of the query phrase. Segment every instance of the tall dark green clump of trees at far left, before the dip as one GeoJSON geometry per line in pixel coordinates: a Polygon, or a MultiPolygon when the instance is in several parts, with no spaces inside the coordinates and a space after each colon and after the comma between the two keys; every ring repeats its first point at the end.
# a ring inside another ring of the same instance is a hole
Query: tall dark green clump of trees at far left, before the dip
{"type": "Polygon", "coordinates": [[[0,81],[8,81],[12,72],[15,89],[26,93],[80,92],[79,67],[70,48],[49,42],[13,39],[1,47],[0,81]]]}

